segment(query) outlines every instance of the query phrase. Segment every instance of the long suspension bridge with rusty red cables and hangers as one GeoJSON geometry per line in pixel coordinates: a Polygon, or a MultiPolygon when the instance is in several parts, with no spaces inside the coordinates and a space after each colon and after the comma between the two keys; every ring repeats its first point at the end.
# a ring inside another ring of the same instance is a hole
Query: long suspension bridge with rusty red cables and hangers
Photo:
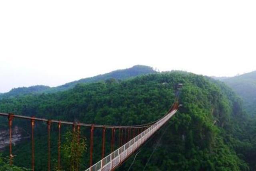
{"type": "MultiPolygon", "coordinates": [[[[182,85],[180,85],[182,86],[182,85]]],[[[90,160],[89,168],[85,171],[114,171],[118,166],[122,165],[130,155],[136,152],[142,144],[144,144],[155,132],[157,132],[166,122],[170,120],[172,116],[177,112],[179,91],[176,92],[176,98],[174,104],[168,110],[168,112],[160,119],[150,122],[147,124],[133,125],[133,126],[111,126],[111,125],[98,125],[98,124],[84,124],[76,122],[65,122],[60,120],[48,120],[44,118],[36,118],[29,116],[21,116],[8,113],[0,113],[0,116],[8,118],[9,126],[9,153],[10,153],[10,165],[12,165],[12,122],[14,118],[19,118],[22,120],[30,120],[31,124],[31,169],[35,171],[35,142],[34,142],[34,127],[36,122],[45,122],[47,123],[48,128],[48,171],[51,170],[51,147],[50,147],[50,132],[53,124],[57,125],[58,128],[58,169],[60,170],[60,146],[61,146],[61,128],[62,125],[72,125],[73,131],[76,129],[79,131],[80,127],[90,127],[90,160]],[[102,129],[102,149],[101,149],[101,160],[94,164],[93,162],[93,147],[94,147],[94,128],[102,129]],[[111,130],[111,153],[105,155],[105,139],[106,139],[106,130],[111,130]],[[118,149],[115,148],[115,132],[118,130],[118,149]]]]}

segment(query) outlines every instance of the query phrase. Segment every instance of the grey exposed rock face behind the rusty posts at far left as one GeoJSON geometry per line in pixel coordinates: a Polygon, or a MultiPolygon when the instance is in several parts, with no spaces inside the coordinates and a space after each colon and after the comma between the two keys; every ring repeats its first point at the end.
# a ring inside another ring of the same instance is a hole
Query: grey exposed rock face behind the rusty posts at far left
{"type": "MultiPolygon", "coordinates": [[[[9,130],[0,130],[0,150],[4,149],[5,147],[9,146],[10,138],[9,138],[9,130]]],[[[16,145],[21,140],[24,140],[26,138],[30,138],[30,135],[25,132],[23,129],[18,128],[18,126],[15,126],[12,129],[12,144],[16,145]]]]}

